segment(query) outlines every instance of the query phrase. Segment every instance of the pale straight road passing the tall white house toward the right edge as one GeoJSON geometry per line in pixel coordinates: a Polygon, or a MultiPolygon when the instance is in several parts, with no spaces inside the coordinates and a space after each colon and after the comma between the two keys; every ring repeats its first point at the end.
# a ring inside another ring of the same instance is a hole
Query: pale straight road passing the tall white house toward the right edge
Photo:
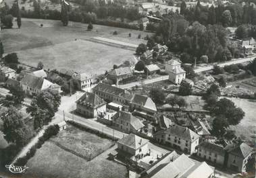
{"type": "MultiPolygon", "coordinates": [[[[243,62],[252,61],[254,58],[255,58],[255,56],[252,56],[252,57],[249,57],[249,58],[239,58],[239,59],[236,59],[236,60],[231,60],[231,61],[224,62],[224,63],[217,64],[217,65],[221,66],[221,67],[224,67],[224,66],[231,65],[231,64],[240,64],[240,63],[243,63],[243,62]]],[[[213,65],[203,66],[200,69],[195,69],[195,73],[201,73],[201,72],[204,72],[204,71],[209,71],[211,69],[213,69],[213,65]]],[[[169,79],[168,75],[163,75],[161,77],[155,77],[153,79],[146,79],[144,81],[136,81],[136,82],[133,82],[133,83],[119,85],[118,87],[120,87],[122,89],[130,89],[130,88],[135,87],[135,86],[145,85],[145,84],[149,84],[149,83],[155,83],[157,81],[166,81],[168,79],[169,79]]]]}

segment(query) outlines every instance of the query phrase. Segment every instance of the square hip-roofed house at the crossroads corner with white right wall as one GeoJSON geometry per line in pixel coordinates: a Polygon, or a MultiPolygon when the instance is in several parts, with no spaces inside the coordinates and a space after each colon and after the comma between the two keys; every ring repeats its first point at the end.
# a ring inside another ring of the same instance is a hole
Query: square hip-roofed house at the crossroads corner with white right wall
{"type": "Polygon", "coordinates": [[[95,93],[84,93],[76,101],[76,112],[88,118],[95,118],[106,112],[106,102],[95,93]]]}

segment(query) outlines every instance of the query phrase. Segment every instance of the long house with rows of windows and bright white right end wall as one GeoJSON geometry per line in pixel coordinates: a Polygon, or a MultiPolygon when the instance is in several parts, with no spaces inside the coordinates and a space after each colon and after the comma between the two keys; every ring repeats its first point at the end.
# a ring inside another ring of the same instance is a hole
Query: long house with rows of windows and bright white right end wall
{"type": "Polygon", "coordinates": [[[173,125],[165,130],[159,130],[154,134],[155,140],[163,144],[169,144],[170,146],[193,154],[196,152],[196,146],[199,144],[200,136],[182,126],[173,125]]]}

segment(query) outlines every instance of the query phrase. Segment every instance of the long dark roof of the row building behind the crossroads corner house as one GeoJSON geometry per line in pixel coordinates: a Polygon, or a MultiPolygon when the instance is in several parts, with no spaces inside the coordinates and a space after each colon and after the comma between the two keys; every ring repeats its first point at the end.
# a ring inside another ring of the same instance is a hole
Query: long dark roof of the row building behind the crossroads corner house
{"type": "Polygon", "coordinates": [[[97,86],[93,88],[93,90],[101,91],[103,93],[109,93],[115,96],[125,96],[130,95],[130,92],[126,89],[120,89],[118,87],[113,87],[111,85],[107,85],[105,83],[99,83],[97,86]]]}

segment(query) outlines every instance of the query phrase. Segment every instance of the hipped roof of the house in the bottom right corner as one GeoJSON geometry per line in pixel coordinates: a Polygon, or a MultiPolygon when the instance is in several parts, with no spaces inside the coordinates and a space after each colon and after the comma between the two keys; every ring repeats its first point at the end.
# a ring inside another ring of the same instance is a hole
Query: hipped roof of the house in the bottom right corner
{"type": "Polygon", "coordinates": [[[253,148],[244,142],[240,145],[232,144],[226,148],[228,148],[229,153],[243,158],[246,158],[253,151],[253,148]]]}

